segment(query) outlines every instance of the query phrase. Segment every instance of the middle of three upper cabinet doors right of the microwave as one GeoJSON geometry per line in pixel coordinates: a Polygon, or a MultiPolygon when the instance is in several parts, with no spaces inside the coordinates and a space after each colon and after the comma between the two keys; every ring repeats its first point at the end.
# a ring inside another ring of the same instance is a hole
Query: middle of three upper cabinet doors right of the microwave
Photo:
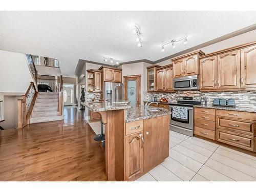
{"type": "Polygon", "coordinates": [[[241,50],[230,51],[218,55],[218,89],[240,88],[240,55],[241,50]]]}

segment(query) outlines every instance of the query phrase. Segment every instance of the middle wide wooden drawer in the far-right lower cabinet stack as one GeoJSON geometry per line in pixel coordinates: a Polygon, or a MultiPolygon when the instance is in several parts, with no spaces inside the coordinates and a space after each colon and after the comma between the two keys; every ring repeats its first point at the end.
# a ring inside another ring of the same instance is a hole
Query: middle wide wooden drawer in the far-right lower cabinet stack
{"type": "Polygon", "coordinates": [[[255,136],[254,122],[251,120],[217,116],[216,127],[219,129],[255,136]]]}

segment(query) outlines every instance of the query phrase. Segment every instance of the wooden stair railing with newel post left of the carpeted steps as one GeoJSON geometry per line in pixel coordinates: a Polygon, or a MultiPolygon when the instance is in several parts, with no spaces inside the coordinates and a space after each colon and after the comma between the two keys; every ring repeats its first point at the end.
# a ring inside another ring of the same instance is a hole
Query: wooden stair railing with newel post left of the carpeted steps
{"type": "Polygon", "coordinates": [[[34,82],[30,82],[29,88],[22,99],[17,99],[18,102],[18,129],[22,129],[29,124],[29,118],[34,108],[37,97],[37,91],[34,82]]]}

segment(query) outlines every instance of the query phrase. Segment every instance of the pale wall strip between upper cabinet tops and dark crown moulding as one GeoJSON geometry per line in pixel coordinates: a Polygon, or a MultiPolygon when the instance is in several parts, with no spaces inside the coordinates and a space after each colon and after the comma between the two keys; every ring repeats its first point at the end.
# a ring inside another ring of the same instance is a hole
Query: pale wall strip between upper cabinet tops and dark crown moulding
{"type": "MultiPolygon", "coordinates": [[[[216,44],[212,44],[212,45],[203,47],[200,50],[202,50],[205,54],[207,54],[207,53],[212,53],[215,51],[220,51],[222,49],[227,49],[230,47],[246,44],[246,43],[252,42],[252,41],[256,41],[256,30],[249,31],[247,33],[243,33],[241,35],[217,42],[216,44]]],[[[170,59],[167,59],[167,60],[161,61],[159,63],[156,63],[156,65],[165,66],[170,63],[172,63],[172,61],[170,59]]]]}

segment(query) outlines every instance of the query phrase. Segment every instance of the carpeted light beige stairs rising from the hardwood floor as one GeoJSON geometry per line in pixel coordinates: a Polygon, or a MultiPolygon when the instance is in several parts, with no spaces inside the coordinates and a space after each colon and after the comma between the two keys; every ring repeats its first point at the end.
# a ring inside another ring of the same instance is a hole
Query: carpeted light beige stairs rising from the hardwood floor
{"type": "Polygon", "coordinates": [[[30,123],[58,121],[58,92],[38,92],[35,105],[30,116],[30,123]]]}

